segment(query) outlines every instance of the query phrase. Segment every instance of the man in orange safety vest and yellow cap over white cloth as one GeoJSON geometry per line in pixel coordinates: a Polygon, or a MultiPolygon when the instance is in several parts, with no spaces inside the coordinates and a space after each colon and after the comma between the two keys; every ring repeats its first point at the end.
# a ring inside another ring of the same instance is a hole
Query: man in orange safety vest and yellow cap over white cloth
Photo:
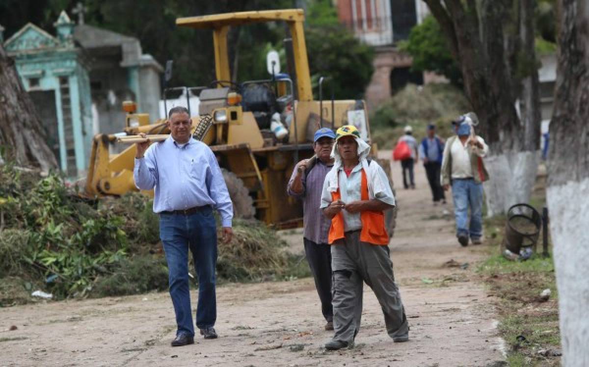
{"type": "Polygon", "coordinates": [[[372,288],[394,342],[409,340],[409,325],[389,257],[384,210],[395,206],[385,171],[368,160],[370,147],[353,125],[336,131],[332,170],[320,207],[332,220],[333,328],[325,348],[351,348],[360,329],[363,282],[372,288]]]}

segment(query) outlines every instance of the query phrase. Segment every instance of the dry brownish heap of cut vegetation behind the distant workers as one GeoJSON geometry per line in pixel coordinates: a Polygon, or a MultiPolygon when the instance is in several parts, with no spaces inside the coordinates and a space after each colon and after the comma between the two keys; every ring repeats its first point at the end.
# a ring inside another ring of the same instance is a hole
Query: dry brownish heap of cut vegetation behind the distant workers
{"type": "Polygon", "coordinates": [[[411,125],[413,136],[421,140],[429,123],[437,125],[438,135],[448,137],[452,119],[470,110],[464,93],[454,85],[408,84],[370,115],[372,139],[379,148],[391,149],[406,125],[411,125]]]}

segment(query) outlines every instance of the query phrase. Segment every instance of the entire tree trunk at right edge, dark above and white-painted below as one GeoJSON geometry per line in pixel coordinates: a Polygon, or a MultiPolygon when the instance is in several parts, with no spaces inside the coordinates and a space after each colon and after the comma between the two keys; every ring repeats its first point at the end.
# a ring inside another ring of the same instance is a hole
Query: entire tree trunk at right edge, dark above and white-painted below
{"type": "Polygon", "coordinates": [[[589,4],[559,0],[558,65],[547,200],[562,365],[589,365],[589,4]]]}

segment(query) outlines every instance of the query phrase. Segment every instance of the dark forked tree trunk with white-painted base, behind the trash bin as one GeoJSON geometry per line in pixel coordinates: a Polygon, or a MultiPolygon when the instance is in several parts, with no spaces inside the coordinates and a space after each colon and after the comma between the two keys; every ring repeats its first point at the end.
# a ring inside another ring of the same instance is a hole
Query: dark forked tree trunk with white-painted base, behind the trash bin
{"type": "Polygon", "coordinates": [[[491,177],[485,183],[487,214],[505,213],[512,204],[530,199],[538,164],[540,98],[534,0],[423,1],[461,66],[466,95],[481,121],[475,130],[489,145],[485,159],[491,177]],[[518,5],[518,16],[505,25],[514,4],[518,5]],[[517,32],[509,34],[511,29],[517,32]],[[512,39],[517,42],[515,48],[521,49],[515,58],[509,52],[514,49],[510,48],[512,39]],[[519,75],[522,69],[525,75],[519,75]],[[521,118],[515,107],[518,98],[521,118]]]}

